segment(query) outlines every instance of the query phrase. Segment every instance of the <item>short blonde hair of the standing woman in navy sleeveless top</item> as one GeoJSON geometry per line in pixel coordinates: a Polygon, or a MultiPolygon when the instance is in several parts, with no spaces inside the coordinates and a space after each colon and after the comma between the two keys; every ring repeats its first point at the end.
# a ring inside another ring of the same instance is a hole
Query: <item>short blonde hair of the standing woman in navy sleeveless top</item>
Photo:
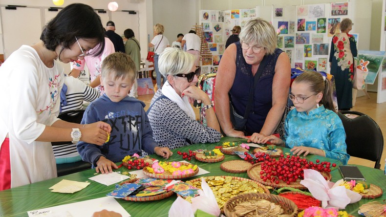
{"type": "Polygon", "coordinates": [[[254,18],[247,21],[238,35],[241,42],[257,43],[265,47],[266,55],[273,54],[277,47],[276,30],[274,26],[261,19],[254,18]]]}

